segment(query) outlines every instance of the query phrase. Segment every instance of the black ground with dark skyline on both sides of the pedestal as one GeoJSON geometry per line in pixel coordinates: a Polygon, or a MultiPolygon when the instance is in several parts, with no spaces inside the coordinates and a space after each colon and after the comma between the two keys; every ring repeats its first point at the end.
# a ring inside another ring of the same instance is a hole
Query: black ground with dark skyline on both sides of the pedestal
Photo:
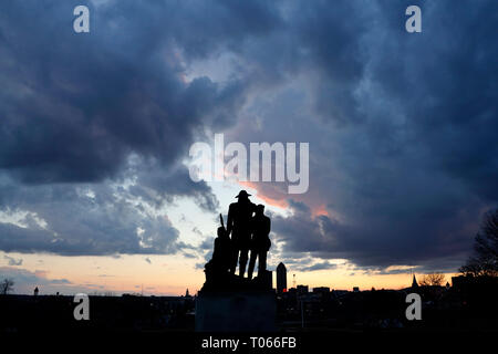
{"type": "MultiPolygon", "coordinates": [[[[276,295],[280,333],[498,333],[497,282],[458,288],[276,295]],[[422,296],[422,320],[407,321],[406,294],[422,296]]],[[[195,296],[90,296],[90,321],[73,316],[73,296],[1,295],[0,333],[193,332],[195,296]]]]}

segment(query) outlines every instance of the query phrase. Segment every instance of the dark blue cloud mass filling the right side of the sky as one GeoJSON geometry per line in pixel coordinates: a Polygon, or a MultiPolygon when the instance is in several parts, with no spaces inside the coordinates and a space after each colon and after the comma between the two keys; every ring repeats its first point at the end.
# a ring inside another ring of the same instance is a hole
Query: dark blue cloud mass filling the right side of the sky
{"type": "Polygon", "coordinates": [[[357,106],[370,122],[346,147],[360,202],[342,206],[360,227],[335,246],[359,264],[455,270],[498,202],[497,4],[423,4],[422,35],[395,20],[405,3],[384,4],[386,27],[367,35],[370,91],[357,106]]]}

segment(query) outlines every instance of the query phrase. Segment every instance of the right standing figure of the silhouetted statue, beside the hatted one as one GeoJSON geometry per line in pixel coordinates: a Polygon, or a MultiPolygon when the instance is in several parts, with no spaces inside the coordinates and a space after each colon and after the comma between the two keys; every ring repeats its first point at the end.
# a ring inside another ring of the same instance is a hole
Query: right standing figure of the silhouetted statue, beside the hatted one
{"type": "Polygon", "coordinates": [[[251,259],[247,271],[247,277],[249,279],[252,279],[256,258],[258,258],[258,278],[261,279],[261,274],[263,274],[267,270],[267,252],[271,247],[271,241],[269,238],[270,229],[270,218],[264,215],[264,206],[260,204],[256,207],[256,215],[252,217],[251,221],[251,259]]]}

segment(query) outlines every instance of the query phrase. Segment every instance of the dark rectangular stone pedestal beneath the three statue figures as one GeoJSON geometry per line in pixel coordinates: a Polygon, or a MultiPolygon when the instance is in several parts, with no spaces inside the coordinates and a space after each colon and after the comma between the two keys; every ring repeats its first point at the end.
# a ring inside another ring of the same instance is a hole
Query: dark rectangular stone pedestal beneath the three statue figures
{"type": "Polygon", "coordinates": [[[200,291],[196,299],[197,332],[276,331],[273,291],[200,291]]]}

